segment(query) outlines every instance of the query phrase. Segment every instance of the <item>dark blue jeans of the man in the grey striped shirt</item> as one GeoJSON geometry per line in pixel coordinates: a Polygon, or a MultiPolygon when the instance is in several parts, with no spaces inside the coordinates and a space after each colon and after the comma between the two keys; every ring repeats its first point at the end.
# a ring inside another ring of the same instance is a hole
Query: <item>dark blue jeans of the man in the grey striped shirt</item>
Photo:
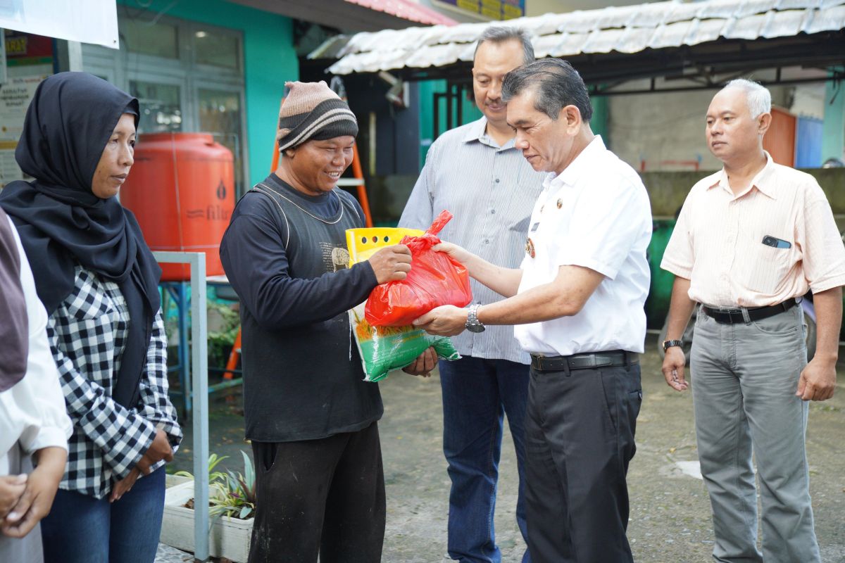
{"type": "MultiPolygon", "coordinates": [[[[441,361],[443,449],[449,463],[449,555],[466,563],[499,563],[493,511],[502,452],[502,416],[508,415],[520,485],[516,522],[526,539],[523,496],[524,421],[529,366],[465,356],[441,361]]],[[[523,563],[530,563],[526,550],[523,563]]]]}

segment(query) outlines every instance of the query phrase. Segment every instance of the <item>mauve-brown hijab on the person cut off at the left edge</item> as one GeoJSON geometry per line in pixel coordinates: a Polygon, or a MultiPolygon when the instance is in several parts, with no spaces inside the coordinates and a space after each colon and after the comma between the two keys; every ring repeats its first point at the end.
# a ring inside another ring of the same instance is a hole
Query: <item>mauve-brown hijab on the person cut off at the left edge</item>
{"type": "Polygon", "coordinates": [[[29,324],[20,286],[18,245],[12,225],[0,209],[0,392],[24,378],[30,350],[29,324]]]}

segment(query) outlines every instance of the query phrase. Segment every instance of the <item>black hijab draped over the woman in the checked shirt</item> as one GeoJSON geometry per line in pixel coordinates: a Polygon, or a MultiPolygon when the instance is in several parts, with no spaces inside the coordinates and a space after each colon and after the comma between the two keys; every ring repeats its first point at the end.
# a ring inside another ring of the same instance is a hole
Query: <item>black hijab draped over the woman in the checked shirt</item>
{"type": "Polygon", "coordinates": [[[77,263],[120,287],[129,330],[112,398],[131,408],[160,300],[161,268],[138,221],[117,198],[91,191],[94,172],[117,121],[135,116],[138,100],[88,73],[58,73],[35,90],[15,150],[20,168],[35,178],[0,192],[0,206],[18,229],[30,257],[35,289],[52,313],[74,289],[77,263]]]}

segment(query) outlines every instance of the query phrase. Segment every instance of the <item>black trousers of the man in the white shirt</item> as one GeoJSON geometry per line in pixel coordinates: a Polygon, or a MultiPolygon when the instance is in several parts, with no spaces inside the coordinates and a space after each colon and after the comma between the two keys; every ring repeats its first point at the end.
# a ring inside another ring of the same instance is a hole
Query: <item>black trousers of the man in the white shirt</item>
{"type": "Polygon", "coordinates": [[[636,450],[640,366],[535,371],[526,416],[534,563],[630,563],[625,475],[636,450]]]}

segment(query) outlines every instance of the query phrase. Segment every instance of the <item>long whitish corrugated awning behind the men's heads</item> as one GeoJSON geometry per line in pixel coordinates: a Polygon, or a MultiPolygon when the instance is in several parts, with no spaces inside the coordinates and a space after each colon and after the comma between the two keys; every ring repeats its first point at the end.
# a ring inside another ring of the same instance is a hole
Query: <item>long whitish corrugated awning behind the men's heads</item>
{"type": "Polygon", "coordinates": [[[720,73],[845,63],[845,0],[670,1],[382,30],[334,39],[309,57],[334,54],[333,74],[467,81],[478,36],[503,24],[528,31],[537,57],[566,58],[590,84],[667,77],[715,84],[720,73]]]}

